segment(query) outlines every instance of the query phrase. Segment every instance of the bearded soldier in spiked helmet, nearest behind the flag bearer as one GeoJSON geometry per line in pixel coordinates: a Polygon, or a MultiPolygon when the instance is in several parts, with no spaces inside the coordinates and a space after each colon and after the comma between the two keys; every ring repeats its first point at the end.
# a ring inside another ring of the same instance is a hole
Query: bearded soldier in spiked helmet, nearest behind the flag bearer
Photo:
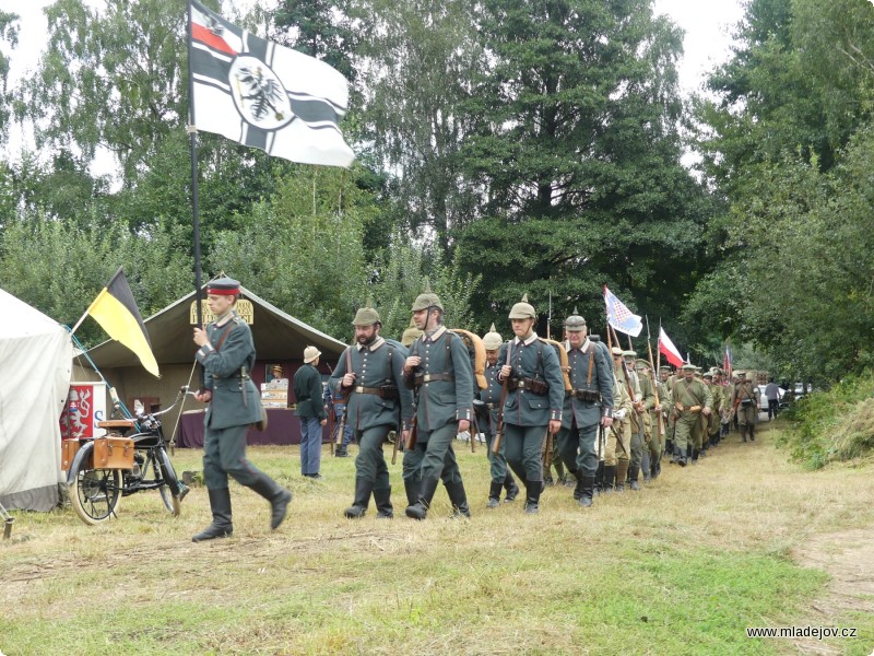
{"type": "Polygon", "coordinates": [[[406,349],[379,335],[382,323],[373,307],[359,308],[352,325],[355,345],[343,351],[329,382],[331,389],[347,398],[346,425],[352,427],[358,442],[355,495],[345,516],[350,519],[363,517],[373,492],[377,517],[390,519],[394,508],[382,443],[390,431],[398,429],[399,407],[402,436],[404,440],[409,436],[413,395],[403,380],[406,349]]]}

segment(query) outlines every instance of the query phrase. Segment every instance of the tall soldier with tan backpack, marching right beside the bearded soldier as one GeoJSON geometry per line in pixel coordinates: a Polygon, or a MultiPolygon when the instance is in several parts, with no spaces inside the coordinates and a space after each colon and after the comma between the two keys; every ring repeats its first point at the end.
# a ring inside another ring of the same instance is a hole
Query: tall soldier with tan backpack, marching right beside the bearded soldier
{"type": "Polygon", "coordinates": [[[406,516],[425,519],[440,478],[457,514],[470,516],[468,495],[452,440],[470,430],[473,370],[468,347],[442,325],[439,296],[426,289],[413,302],[413,321],[423,331],[410,347],[404,382],[416,390],[415,444],[403,455],[406,516]],[[415,499],[415,503],[412,503],[415,499]]]}

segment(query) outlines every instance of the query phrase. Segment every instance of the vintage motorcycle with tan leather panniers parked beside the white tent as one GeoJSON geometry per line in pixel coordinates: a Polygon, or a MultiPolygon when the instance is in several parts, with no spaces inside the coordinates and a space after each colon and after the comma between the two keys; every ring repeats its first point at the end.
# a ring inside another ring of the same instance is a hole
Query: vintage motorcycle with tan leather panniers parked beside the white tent
{"type": "MultiPolygon", "coordinates": [[[[120,410],[120,401],[114,393],[110,389],[115,414],[120,410]]],[[[160,412],[146,413],[138,401],[135,418],[97,422],[98,427],[108,432],[107,437],[66,441],[78,442],[74,445],[78,450],[67,473],[67,485],[70,502],[82,522],[95,525],[117,517],[121,497],[143,490],[157,490],[167,512],[174,517],[179,516],[188,488],[179,481],[167,455],[158,417],[173,410],[186,394],[193,395],[184,385],[173,405],[160,412]],[[135,432],[127,435],[130,431],[135,432]],[[95,454],[95,449],[99,453],[95,454]],[[95,467],[95,457],[103,462],[107,449],[114,457],[105,467],[95,467]]]]}

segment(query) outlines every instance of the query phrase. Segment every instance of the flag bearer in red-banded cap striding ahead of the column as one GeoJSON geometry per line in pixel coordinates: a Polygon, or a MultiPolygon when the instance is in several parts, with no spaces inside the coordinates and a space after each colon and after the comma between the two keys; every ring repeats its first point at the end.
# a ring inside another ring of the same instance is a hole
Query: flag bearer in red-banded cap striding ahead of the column
{"type": "Polygon", "coordinates": [[[194,542],[226,538],[234,532],[227,477],[251,488],[270,502],[270,528],[285,518],[292,493],[246,459],[246,433],[261,421],[263,408],[249,378],[255,365],[252,332],[237,316],[239,282],[218,278],[210,283],[206,302],[216,319],[194,328],[196,358],[203,365],[203,389],[196,398],[209,403],[204,417],[203,480],[210,495],[212,524],[191,538],[194,542]]]}

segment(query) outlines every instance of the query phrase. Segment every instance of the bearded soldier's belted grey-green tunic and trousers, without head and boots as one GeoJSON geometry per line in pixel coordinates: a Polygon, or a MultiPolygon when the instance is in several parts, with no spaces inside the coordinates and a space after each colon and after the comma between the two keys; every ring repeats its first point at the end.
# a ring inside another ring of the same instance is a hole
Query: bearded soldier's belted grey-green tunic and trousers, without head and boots
{"type": "Polygon", "coordinates": [[[405,429],[413,419],[413,395],[403,379],[405,360],[406,349],[377,337],[369,347],[347,347],[329,382],[333,391],[343,394],[347,391],[343,376],[355,374],[346,402],[346,427],[358,442],[355,476],[373,483],[377,496],[390,490],[382,443],[389,431],[405,429]],[[399,409],[402,426],[398,426],[399,409]]]}

